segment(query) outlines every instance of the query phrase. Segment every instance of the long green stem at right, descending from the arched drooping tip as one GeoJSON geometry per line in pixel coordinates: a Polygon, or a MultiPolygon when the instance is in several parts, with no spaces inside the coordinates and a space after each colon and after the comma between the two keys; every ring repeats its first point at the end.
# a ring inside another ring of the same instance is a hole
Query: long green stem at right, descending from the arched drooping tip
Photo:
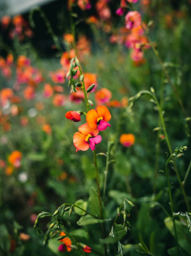
{"type": "MultiPolygon", "coordinates": [[[[167,145],[168,145],[168,149],[169,149],[169,152],[170,152],[170,155],[172,155],[172,148],[171,148],[171,144],[170,144],[170,141],[169,141],[169,137],[168,137],[168,134],[167,134],[167,130],[166,130],[166,126],[165,126],[165,123],[164,123],[164,118],[163,118],[163,114],[162,114],[162,110],[161,110],[161,107],[159,105],[159,102],[155,96],[155,94],[153,93],[153,98],[155,99],[156,103],[157,103],[157,106],[158,106],[158,110],[159,110],[159,116],[160,116],[160,120],[161,120],[161,123],[162,123],[162,127],[163,127],[163,131],[164,131],[164,135],[165,135],[165,139],[166,139],[166,142],[167,142],[167,145]]],[[[172,158],[173,160],[173,158],[172,158]]],[[[174,169],[175,169],[175,173],[177,175],[177,179],[178,179],[178,182],[180,184],[180,187],[181,187],[181,190],[182,190],[182,194],[184,196],[184,200],[185,200],[185,203],[187,205],[187,209],[188,211],[190,212],[190,205],[188,203],[188,198],[187,198],[187,195],[185,193],[185,190],[184,190],[184,187],[182,185],[182,181],[180,179],[180,175],[178,173],[178,169],[177,169],[177,166],[175,164],[175,161],[173,161],[173,164],[174,164],[174,169]]]]}

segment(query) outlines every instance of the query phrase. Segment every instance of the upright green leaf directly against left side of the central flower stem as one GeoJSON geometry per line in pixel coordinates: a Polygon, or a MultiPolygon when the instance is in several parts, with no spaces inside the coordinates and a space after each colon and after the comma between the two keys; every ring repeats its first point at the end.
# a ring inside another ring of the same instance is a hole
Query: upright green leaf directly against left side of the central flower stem
{"type": "Polygon", "coordinates": [[[93,215],[100,217],[100,204],[98,193],[94,187],[90,187],[90,196],[88,199],[88,207],[93,215]]]}

